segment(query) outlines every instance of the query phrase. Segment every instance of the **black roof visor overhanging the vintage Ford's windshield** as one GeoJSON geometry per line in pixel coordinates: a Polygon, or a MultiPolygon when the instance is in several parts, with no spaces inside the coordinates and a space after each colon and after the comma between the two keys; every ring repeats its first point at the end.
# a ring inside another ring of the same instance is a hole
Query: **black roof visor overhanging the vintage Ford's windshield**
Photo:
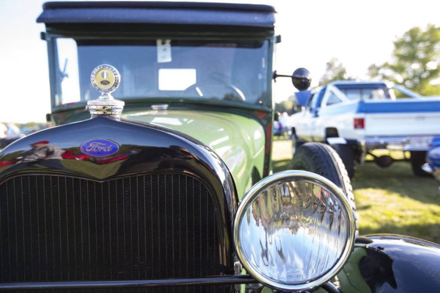
{"type": "Polygon", "coordinates": [[[269,5],[207,2],[46,2],[37,22],[230,25],[273,28],[269,5]]]}

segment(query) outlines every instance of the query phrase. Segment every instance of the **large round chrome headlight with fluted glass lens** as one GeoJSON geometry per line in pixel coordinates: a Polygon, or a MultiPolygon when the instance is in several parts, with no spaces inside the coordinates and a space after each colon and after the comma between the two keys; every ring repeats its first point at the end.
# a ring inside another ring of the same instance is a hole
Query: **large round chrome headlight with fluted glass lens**
{"type": "Polygon", "coordinates": [[[244,196],[234,222],[242,265],[279,290],[308,290],[347,262],[354,217],[341,189],[306,171],[273,174],[244,196]]]}

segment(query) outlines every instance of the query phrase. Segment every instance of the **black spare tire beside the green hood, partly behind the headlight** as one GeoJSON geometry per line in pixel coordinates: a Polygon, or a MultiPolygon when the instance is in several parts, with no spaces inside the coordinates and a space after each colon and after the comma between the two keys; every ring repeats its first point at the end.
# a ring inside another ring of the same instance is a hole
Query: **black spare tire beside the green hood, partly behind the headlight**
{"type": "Polygon", "coordinates": [[[357,235],[358,226],[353,188],[344,163],[337,152],[329,145],[322,143],[305,143],[296,149],[290,168],[316,173],[341,188],[352,207],[357,235]]]}

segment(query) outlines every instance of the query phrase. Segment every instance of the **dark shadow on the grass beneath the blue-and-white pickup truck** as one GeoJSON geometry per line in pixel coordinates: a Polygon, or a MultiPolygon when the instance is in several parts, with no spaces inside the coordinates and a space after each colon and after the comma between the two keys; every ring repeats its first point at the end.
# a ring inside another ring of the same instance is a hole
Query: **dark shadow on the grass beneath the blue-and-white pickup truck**
{"type": "Polygon", "coordinates": [[[366,163],[357,168],[352,186],[386,189],[423,203],[440,204],[439,184],[433,178],[414,175],[409,163],[396,162],[387,168],[366,163]]]}

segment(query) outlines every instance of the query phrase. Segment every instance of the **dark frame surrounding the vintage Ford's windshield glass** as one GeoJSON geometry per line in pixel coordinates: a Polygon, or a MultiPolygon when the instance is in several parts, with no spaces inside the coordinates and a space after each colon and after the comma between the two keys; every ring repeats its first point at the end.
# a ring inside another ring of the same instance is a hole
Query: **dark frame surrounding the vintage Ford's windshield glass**
{"type": "MultiPolygon", "coordinates": [[[[127,99],[125,100],[126,104],[139,104],[140,102],[145,102],[146,104],[197,104],[197,105],[212,105],[216,107],[218,105],[224,105],[229,107],[236,107],[242,109],[249,110],[262,110],[264,112],[272,111],[272,76],[273,76],[273,52],[274,52],[274,38],[273,36],[267,35],[248,35],[248,36],[236,36],[236,35],[215,35],[215,36],[182,36],[182,35],[169,35],[169,34],[161,34],[160,36],[128,36],[128,37],[114,37],[114,36],[92,36],[92,35],[77,35],[77,34],[56,34],[56,33],[47,33],[46,41],[47,41],[47,50],[48,50],[48,63],[49,63],[49,79],[50,79],[50,96],[51,96],[51,109],[52,113],[57,111],[65,111],[69,109],[79,109],[85,108],[87,105],[87,101],[81,101],[74,104],[65,104],[65,105],[57,105],[56,103],[56,95],[57,95],[57,70],[62,68],[63,64],[58,62],[58,54],[57,54],[57,43],[56,40],[58,38],[70,38],[70,39],[89,39],[89,40],[157,40],[158,38],[167,38],[167,39],[178,39],[178,40],[219,40],[219,41],[266,41],[267,42],[267,70],[266,70],[266,91],[262,92],[262,99],[258,104],[250,104],[243,103],[239,101],[228,101],[228,100],[201,100],[197,98],[136,98],[136,99],[127,99]]],[[[88,78],[88,77],[87,77],[88,78]]],[[[98,98],[99,93],[96,92],[96,98],[98,98]]]]}

